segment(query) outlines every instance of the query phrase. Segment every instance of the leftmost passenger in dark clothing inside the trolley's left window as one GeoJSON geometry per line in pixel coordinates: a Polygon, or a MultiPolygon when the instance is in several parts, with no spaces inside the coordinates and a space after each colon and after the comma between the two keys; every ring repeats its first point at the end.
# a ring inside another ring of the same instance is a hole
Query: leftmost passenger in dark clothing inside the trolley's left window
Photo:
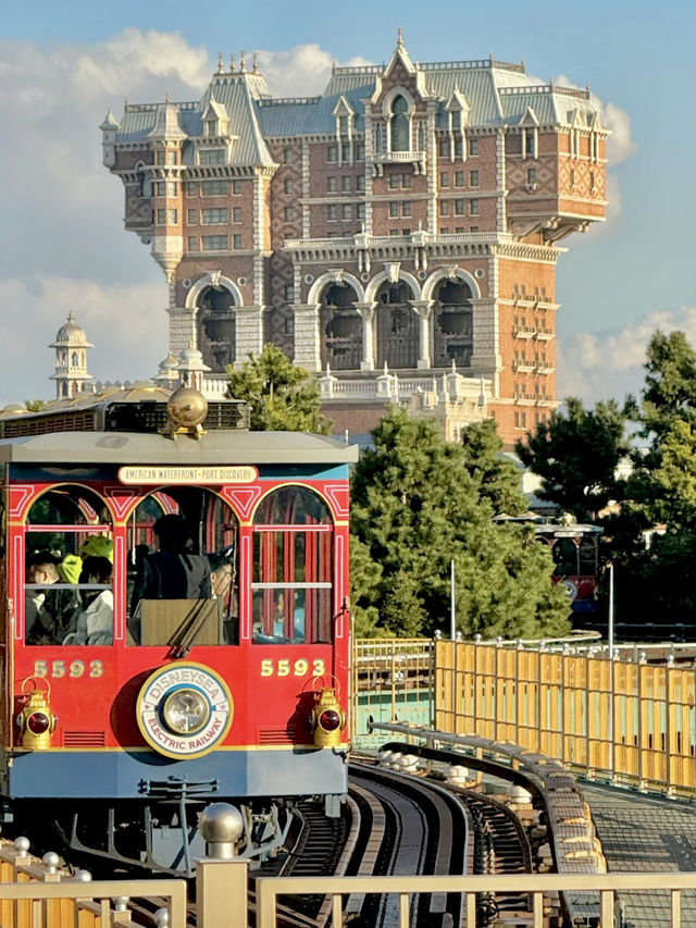
{"type": "Polygon", "coordinates": [[[28,582],[46,589],[27,591],[27,644],[60,644],[69,632],[75,630],[80,605],[76,591],[50,589],[61,580],[60,564],[61,558],[48,550],[30,557],[28,582]]]}

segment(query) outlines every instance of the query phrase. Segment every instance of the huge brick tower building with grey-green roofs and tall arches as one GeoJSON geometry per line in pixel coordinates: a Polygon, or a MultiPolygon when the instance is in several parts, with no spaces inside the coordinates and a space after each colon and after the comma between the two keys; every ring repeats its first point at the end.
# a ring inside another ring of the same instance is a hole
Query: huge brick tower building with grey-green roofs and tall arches
{"type": "MultiPolygon", "coordinates": [[[[524,65],[336,67],[319,97],[220,62],[198,102],[101,125],[126,227],[170,290],[170,345],[224,388],[266,341],[321,379],[339,428],[423,396],[484,410],[506,442],[556,405],[557,243],[605,216],[586,90],[524,65]]],[[[425,403],[427,406],[428,403],[425,403]]]]}

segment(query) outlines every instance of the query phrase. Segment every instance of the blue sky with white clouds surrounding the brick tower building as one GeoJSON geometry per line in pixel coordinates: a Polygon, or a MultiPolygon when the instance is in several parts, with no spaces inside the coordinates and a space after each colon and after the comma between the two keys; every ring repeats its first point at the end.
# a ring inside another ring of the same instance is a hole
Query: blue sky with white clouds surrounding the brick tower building
{"type": "Polygon", "coordinates": [[[334,59],[388,59],[398,26],[414,60],[524,58],[544,81],[589,84],[611,116],[608,222],[561,243],[559,397],[638,389],[658,325],[696,344],[695,8],[470,0],[433,3],[424,20],[423,5],[5,0],[0,405],[51,396],[45,346],[71,307],[96,344],[98,379],[151,376],[165,354],[164,279],[123,232],[121,185],[101,166],[97,126],[109,106],[119,115],[124,96],[165,90],[196,99],[217,51],[240,48],[265,54],[274,92],[316,92],[334,59]]]}

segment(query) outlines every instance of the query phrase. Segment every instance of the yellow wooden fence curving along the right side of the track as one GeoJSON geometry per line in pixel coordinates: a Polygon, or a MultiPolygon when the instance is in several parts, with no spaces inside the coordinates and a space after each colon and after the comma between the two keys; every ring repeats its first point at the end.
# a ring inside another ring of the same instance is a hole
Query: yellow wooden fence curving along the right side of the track
{"type": "Polygon", "coordinates": [[[435,645],[435,728],[696,793],[696,670],[489,642],[435,645]]]}

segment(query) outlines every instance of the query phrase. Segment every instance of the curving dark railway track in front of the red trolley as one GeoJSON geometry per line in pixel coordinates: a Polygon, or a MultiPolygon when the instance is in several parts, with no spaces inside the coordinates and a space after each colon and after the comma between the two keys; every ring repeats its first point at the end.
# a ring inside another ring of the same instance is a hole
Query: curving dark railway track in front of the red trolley
{"type": "MultiPolygon", "coordinates": [[[[502,802],[423,772],[380,766],[374,757],[351,762],[350,792],[340,818],[327,819],[309,802],[301,803],[297,812],[297,827],[288,845],[254,865],[250,873],[250,925],[258,877],[510,875],[533,870],[525,829],[502,802]]],[[[133,924],[151,928],[160,904],[158,900],[130,901],[133,924]]],[[[410,924],[414,928],[463,928],[462,913],[463,899],[458,893],[414,894],[410,900],[410,924]]],[[[399,924],[399,899],[352,893],[344,899],[343,917],[348,928],[387,928],[399,924]]],[[[477,900],[476,928],[519,925],[527,918],[524,894],[477,900]]],[[[323,928],[331,920],[328,898],[318,894],[281,900],[277,924],[282,928],[323,928]]],[[[194,902],[188,925],[198,926],[194,902]]]]}

